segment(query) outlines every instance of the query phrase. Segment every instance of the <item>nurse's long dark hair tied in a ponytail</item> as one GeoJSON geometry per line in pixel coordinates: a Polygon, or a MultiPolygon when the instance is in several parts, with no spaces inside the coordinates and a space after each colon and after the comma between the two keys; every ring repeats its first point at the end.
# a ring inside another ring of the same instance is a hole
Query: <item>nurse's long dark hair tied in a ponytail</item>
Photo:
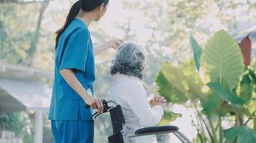
{"type": "Polygon", "coordinates": [[[101,4],[109,4],[109,0],[79,0],[76,1],[75,4],[71,7],[70,11],[68,12],[68,16],[65,19],[65,24],[55,32],[56,39],[55,39],[55,49],[57,49],[58,41],[60,39],[60,35],[63,34],[63,31],[68,27],[68,25],[76,18],[79,11],[92,11],[96,9],[96,7],[101,6],[101,4]]]}

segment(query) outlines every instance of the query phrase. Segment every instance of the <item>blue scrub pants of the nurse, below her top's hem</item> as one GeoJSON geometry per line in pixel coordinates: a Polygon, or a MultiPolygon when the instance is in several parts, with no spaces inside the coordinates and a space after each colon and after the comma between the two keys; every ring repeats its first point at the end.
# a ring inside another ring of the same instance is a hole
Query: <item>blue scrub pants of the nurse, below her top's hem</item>
{"type": "Polygon", "coordinates": [[[55,143],[93,143],[94,121],[52,120],[55,143]]]}

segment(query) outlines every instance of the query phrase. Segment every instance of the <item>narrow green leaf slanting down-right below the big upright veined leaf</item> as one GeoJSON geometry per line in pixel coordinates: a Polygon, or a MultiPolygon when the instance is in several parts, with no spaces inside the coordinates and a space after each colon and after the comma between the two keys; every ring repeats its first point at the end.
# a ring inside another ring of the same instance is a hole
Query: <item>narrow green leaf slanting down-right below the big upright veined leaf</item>
{"type": "Polygon", "coordinates": [[[217,95],[219,95],[221,99],[225,100],[226,102],[231,102],[232,104],[240,104],[240,105],[244,104],[244,101],[241,98],[237,97],[236,94],[234,94],[229,89],[219,84],[216,84],[214,82],[209,82],[207,86],[213,89],[213,91],[217,95]]]}

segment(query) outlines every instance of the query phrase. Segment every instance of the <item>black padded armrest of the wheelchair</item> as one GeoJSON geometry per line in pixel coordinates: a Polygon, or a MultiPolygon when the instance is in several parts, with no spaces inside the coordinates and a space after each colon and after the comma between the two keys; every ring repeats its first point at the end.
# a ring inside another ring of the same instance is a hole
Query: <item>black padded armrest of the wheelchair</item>
{"type": "Polygon", "coordinates": [[[175,126],[159,126],[159,127],[145,127],[142,129],[137,129],[135,131],[135,135],[137,136],[145,136],[151,134],[165,134],[170,132],[177,132],[178,127],[175,126]]]}

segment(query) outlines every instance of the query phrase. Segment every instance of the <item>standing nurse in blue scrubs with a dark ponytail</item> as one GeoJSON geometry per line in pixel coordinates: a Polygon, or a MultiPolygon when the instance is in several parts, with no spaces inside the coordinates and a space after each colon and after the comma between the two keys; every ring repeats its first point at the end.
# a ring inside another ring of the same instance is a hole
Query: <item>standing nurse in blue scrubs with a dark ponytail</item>
{"type": "Polygon", "coordinates": [[[99,21],[109,0],[80,0],[71,7],[64,26],[56,34],[55,79],[48,119],[56,143],[93,143],[92,109],[103,112],[101,99],[94,97],[94,55],[117,49],[122,40],[95,46],[92,21],[99,21]],[[88,104],[91,108],[86,109],[88,104]]]}

